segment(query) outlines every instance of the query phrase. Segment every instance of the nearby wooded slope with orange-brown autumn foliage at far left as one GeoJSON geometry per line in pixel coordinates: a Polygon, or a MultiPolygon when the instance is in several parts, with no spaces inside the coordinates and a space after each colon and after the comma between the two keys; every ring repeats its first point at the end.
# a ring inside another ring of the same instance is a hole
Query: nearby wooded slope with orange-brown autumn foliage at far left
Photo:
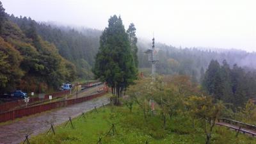
{"type": "Polygon", "coordinates": [[[0,91],[20,88],[28,92],[58,88],[74,81],[74,64],[60,56],[58,49],[41,38],[35,22],[24,28],[8,19],[0,3],[0,91]]]}

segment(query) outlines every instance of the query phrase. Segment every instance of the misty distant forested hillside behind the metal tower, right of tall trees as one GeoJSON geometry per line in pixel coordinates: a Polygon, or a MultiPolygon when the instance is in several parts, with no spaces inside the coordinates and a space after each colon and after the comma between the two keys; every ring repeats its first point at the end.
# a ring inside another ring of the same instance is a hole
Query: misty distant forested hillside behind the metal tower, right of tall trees
{"type": "MultiPolygon", "coordinates": [[[[144,54],[144,51],[150,47],[150,42],[138,40],[140,68],[150,67],[148,56],[144,54]]],[[[253,59],[256,57],[255,52],[183,49],[160,43],[156,44],[156,48],[159,49],[159,63],[156,65],[159,74],[185,74],[191,76],[194,82],[200,82],[211,60],[217,60],[219,63],[226,60],[229,65],[237,64],[246,71],[254,71],[256,68],[256,61],[253,59]]]]}

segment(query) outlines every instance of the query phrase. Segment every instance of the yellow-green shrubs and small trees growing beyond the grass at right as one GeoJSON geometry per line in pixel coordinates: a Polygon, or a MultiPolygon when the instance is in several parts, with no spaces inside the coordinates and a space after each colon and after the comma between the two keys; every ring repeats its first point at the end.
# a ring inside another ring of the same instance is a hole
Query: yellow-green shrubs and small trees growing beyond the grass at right
{"type": "MultiPolygon", "coordinates": [[[[201,92],[187,76],[163,76],[157,77],[155,81],[148,78],[141,79],[134,86],[129,87],[127,94],[129,98],[125,103],[129,102],[128,108],[131,111],[131,101],[138,104],[145,122],[148,121],[148,117],[157,114],[161,116],[163,129],[166,129],[167,118],[172,120],[177,116],[183,117],[184,120],[190,120],[191,129],[195,131],[201,129],[204,132],[206,144],[214,140],[214,127],[218,118],[243,119],[243,122],[251,122],[251,124],[256,121],[253,112],[256,111],[256,105],[252,100],[248,101],[247,107],[234,112],[229,105],[201,92]],[[244,113],[250,116],[244,118],[244,113]]],[[[182,123],[183,121],[180,121],[179,125],[182,123]]]]}

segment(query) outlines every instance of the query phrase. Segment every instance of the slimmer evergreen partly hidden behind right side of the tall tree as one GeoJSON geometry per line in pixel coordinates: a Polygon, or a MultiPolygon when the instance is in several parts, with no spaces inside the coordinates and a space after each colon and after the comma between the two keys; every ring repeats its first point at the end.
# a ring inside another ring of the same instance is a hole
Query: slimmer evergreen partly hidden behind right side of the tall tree
{"type": "Polygon", "coordinates": [[[131,51],[132,51],[132,58],[134,60],[135,66],[138,68],[139,61],[138,61],[138,47],[137,47],[137,40],[136,37],[136,28],[133,23],[130,24],[129,28],[127,29],[127,34],[129,36],[129,42],[131,44],[131,51]]]}

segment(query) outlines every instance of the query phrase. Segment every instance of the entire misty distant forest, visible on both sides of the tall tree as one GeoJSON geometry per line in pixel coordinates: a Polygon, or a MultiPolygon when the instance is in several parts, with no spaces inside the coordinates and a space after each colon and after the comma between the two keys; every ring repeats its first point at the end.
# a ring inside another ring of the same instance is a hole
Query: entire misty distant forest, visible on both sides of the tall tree
{"type": "MultiPolygon", "coordinates": [[[[91,79],[91,69],[99,49],[99,38],[102,31],[78,26],[63,26],[57,22],[36,22],[28,17],[8,15],[8,20],[17,24],[26,33],[31,24],[35,26],[36,34],[43,40],[56,46],[60,56],[70,61],[76,67],[76,77],[91,79]]],[[[151,40],[138,38],[138,60],[141,72],[150,73],[151,64],[145,51],[152,47],[151,40]]],[[[254,72],[256,68],[255,52],[238,49],[207,49],[204,47],[173,47],[157,40],[156,48],[159,62],[158,74],[183,74],[200,82],[211,60],[227,63],[232,67],[237,64],[246,72],[254,72]]]]}

